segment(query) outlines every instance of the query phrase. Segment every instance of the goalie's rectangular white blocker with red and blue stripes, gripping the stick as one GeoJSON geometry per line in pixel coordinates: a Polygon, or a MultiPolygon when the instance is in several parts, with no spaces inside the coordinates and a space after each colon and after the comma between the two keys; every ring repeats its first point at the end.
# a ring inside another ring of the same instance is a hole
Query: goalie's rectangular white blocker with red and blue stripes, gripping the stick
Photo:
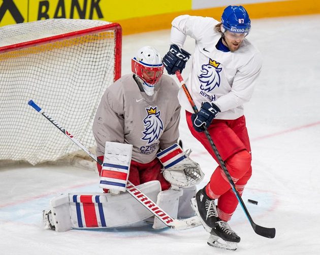
{"type": "Polygon", "coordinates": [[[105,155],[100,176],[100,188],[109,189],[110,193],[125,192],[129,176],[132,144],[106,142],[105,155]]]}

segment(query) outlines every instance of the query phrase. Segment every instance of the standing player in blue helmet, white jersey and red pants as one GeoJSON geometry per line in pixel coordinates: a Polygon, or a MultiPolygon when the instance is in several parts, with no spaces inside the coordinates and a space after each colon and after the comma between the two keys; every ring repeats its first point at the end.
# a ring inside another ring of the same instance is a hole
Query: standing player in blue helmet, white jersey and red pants
{"type": "MultiPolygon", "coordinates": [[[[251,176],[251,149],[243,104],[249,101],[262,67],[260,52],[246,38],[250,27],[248,13],[242,6],[228,6],[221,22],[210,17],[178,16],[172,21],[171,47],[163,58],[169,74],[182,72],[190,57],[183,50],[184,41],[187,35],[195,39],[187,84],[200,111],[193,114],[183,91],[179,91],[180,104],[186,109],[191,133],[218,162],[203,132],[203,126],[207,127],[239,194],[251,176]]],[[[193,204],[203,226],[211,233],[208,244],[236,249],[240,237],[228,221],[238,200],[220,166],[210,182],[198,191],[193,204]]]]}

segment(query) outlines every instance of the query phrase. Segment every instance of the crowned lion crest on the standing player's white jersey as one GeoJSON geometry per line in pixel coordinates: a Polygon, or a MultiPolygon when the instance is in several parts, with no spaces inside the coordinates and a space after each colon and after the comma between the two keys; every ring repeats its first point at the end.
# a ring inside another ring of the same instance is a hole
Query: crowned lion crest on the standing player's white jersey
{"type": "Polygon", "coordinates": [[[219,72],[222,68],[218,68],[220,63],[210,59],[209,64],[202,65],[202,74],[198,76],[201,82],[200,89],[210,92],[215,87],[220,86],[220,75],[219,72]]]}

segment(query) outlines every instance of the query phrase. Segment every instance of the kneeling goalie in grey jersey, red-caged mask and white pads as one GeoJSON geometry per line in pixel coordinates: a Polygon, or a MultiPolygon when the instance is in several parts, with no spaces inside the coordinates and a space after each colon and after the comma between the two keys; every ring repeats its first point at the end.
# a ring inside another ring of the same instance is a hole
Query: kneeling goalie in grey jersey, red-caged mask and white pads
{"type": "Polygon", "coordinates": [[[171,217],[194,216],[190,200],[204,174],[178,144],[179,88],[163,75],[162,58],[153,47],[139,49],[131,61],[133,73],[107,88],[93,123],[103,193],[52,199],[43,212],[46,228],[114,228],[143,220],[156,229],[166,227],[126,192],[127,180],[171,217]]]}

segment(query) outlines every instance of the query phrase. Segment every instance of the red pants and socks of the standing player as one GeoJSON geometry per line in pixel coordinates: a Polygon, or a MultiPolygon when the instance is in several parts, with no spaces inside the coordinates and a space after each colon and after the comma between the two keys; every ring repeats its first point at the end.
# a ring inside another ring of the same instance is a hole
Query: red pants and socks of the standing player
{"type": "MultiPolygon", "coordinates": [[[[205,133],[195,131],[191,121],[191,113],[186,112],[186,120],[191,133],[218,163],[205,133]]],[[[208,131],[241,195],[252,173],[251,148],[244,116],[236,120],[214,119],[208,131]]],[[[206,186],[206,193],[212,199],[218,199],[219,218],[223,221],[229,221],[236,210],[238,199],[220,166],[214,170],[210,182],[206,186]]]]}

